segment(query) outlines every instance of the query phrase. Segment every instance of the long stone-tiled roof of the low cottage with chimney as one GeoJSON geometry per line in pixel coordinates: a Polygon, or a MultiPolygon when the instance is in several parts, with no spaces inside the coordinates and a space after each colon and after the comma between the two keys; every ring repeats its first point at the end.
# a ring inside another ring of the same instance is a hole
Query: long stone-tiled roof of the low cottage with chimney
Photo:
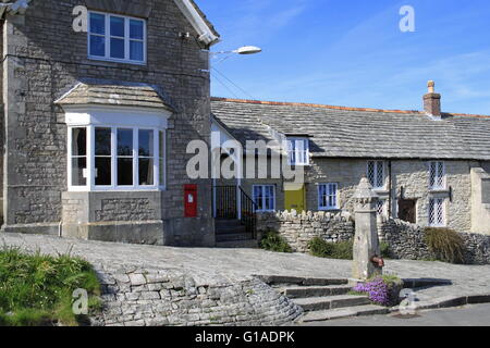
{"type": "Polygon", "coordinates": [[[490,116],[212,98],[215,117],[242,144],[309,135],[314,157],[490,160],[490,116]]]}

